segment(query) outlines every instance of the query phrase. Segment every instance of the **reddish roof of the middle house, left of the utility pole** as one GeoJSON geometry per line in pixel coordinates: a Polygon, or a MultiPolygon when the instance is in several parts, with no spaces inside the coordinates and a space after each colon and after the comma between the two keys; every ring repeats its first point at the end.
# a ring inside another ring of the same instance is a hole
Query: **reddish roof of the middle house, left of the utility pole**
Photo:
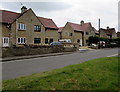
{"type": "Polygon", "coordinates": [[[89,26],[91,26],[90,23],[84,23],[84,24],[76,24],[71,22],[68,23],[73,28],[74,31],[80,31],[80,32],[85,31],[89,26]]]}

